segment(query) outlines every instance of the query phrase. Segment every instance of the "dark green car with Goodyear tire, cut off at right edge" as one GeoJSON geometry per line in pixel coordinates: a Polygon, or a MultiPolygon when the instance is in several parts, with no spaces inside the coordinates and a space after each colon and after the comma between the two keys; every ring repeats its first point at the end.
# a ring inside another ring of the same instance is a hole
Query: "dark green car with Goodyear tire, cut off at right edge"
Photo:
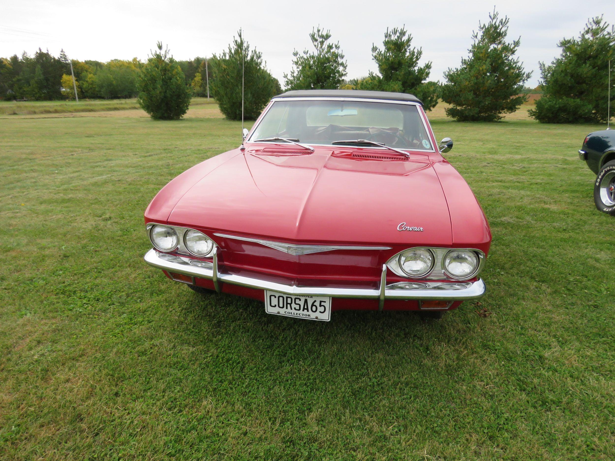
{"type": "Polygon", "coordinates": [[[589,133],[579,150],[579,159],[598,175],[593,183],[596,208],[615,215],[615,130],[589,133]]]}

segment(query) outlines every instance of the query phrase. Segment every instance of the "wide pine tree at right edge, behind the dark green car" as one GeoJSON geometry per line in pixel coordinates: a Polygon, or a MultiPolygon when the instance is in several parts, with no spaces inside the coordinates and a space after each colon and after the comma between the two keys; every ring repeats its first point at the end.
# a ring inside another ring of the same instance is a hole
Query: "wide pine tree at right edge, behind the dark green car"
{"type": "MultiPolygon", "coordinates": [[[[615,68],[615,27],[602,17],[589,20],[578,39],[562,39],[561,55],[540,63],[543,95],[530,115],[539,122],[606,122],[608,63],[615,68]]],[[[615,103],[615,87],[611,89],[615,103]]]]}

